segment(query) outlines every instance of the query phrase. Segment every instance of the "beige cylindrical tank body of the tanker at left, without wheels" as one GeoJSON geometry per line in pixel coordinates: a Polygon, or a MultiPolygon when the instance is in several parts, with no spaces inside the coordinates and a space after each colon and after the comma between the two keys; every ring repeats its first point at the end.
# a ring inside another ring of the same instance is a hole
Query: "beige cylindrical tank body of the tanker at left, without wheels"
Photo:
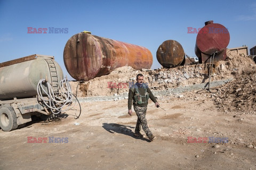
{"type": "Polygon", "coordinates": [[[63,72],[53,56],[35,54],[0,63],[0,100],[36,96],[40,79],[50,82],[53,90],[58,89],[63,72]]]}

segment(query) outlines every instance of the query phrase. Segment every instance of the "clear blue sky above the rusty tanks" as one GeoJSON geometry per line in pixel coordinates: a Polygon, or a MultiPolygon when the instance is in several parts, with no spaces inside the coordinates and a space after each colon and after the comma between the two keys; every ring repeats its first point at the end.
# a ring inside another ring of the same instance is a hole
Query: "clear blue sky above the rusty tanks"
{"type": "Polygon", "coordinates": [[[256,46],[255,1],[8,1],[0,0],[0,63],[31,54],[52,55],[66,71],[63,49],[67,40],[88,30],[93,35],[146,47],[153,55],[151,69],[161,67],[156,51],[165,40],[178,41],[196,56],[196,33],[213,20],[228,28],[228,48],[256,46]],[[28,27],[47,33],[28,33],[28,27]],[[49,27],[66,28],[49,33],[49,27]]]}

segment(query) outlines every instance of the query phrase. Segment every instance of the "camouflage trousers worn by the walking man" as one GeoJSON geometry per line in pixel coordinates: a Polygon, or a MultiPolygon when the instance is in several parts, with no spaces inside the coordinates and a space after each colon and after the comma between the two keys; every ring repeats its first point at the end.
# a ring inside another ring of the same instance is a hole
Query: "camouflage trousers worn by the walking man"
{"type": "Polygon", "coordinates": [[[152,132],[148,129],[148,123],[146,120],[147,106],[133,106],[133,108],[138,116],[135,133],[139,133],[142,127],[148,138],[153,137],[152,132]]]}

